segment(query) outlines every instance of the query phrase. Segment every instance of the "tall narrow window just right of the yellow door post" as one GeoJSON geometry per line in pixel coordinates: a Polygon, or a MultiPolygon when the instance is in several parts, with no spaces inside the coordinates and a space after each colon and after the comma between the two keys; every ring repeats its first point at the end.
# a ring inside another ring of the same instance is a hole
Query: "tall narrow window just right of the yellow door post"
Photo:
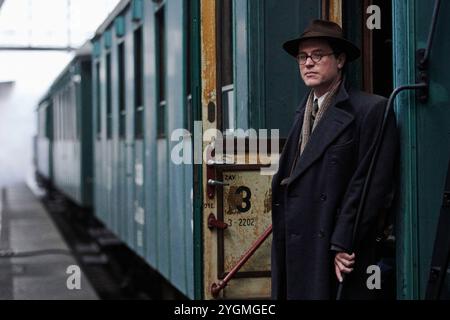
{"type": "Polygon", "coordinates": [[[222,118],[222,131],[233,132],[236,129],[236,112],[234,105],[234,46],[233,46],[233,1],[221,0],[218,6],[217,46],[218,46],[218,110],[222,118]]]}

